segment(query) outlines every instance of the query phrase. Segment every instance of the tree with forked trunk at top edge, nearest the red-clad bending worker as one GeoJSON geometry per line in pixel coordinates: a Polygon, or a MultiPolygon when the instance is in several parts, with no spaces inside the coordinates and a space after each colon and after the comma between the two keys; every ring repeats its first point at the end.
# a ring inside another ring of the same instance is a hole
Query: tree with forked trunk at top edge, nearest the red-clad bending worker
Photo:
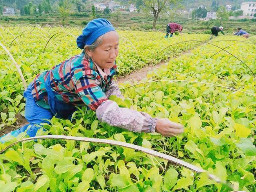
{"type": "Polygon", "coordinates": [[[161,12],[170,9],[170,6],[174,4],[176,0],[144,0],[144,7],[146,12],[152,12],[153,19],[153,29],[156,28],[156,21],[161,12]]]}

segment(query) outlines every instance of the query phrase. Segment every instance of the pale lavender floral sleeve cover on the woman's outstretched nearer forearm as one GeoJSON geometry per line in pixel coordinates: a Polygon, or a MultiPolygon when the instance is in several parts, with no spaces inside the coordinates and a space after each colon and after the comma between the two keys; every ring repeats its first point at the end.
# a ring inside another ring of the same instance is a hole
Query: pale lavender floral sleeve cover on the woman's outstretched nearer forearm
{"type": "Polygon", "coordinates": [[[101,122],[133,132],[148,133],[156,130],[157,118],[152,118],[145,112],[120,108],[111,100],[102,103],[96,110],[96,115],[101,122]]]}

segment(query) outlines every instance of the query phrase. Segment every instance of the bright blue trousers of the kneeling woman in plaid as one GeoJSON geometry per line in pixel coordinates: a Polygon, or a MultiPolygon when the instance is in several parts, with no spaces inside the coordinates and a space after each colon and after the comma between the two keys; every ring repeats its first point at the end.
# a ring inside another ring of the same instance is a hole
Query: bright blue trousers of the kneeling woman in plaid
{"type": "MultiPolygon", "coordinates": [[[[26,106],[25,106],[25,118],[28,121],[29,124],[24,125],[17,130],[14,130],[0,138],[0,141],[5,136],[18,136],[18,134],[25,132],[28,136],[33,137],[36,136],[37,130],[40,128],[41,123],[49,123],[49,121],[54,115],[50,110],[47,110],[45,108],[39,107],[36,105],[36,102],[34,101],[34,98],[32,96],[31,92],[31,84],[29,84],[26,91],[24,91],[24,98],[26,98],[26,106]]],[[[1,141],[2,142],[2,141],[1,141]]]]}

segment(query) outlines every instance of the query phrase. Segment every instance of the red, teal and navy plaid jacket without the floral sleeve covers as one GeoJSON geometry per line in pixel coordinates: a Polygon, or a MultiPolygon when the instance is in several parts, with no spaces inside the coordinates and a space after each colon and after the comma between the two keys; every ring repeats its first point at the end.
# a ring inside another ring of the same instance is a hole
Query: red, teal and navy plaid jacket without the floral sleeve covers
{"type": "Polygon", "coordinates": [[[116,64],[109,70],[109,75],[102,76],[92,60],[82,52],[38,74],[32,82],[32,96],[38,106],[50,109],[45,87],[46,77],[50,75],[51,87],[58,100],[75,106],[86,105],[96,111],[108,100],[104,92],[112,84],[115,74],[116,64]]]}

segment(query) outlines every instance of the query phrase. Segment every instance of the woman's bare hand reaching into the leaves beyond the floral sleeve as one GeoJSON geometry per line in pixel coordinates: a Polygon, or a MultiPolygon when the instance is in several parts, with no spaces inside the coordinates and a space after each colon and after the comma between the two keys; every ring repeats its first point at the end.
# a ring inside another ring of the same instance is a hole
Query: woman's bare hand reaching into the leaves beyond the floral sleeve
{"type": "Polygon", "coordinates": [[[158,119],[156,122],[156,132],[165,137],[172,137],[184,132],[181,124],[171,122],[167,118],[158,119]]]}

